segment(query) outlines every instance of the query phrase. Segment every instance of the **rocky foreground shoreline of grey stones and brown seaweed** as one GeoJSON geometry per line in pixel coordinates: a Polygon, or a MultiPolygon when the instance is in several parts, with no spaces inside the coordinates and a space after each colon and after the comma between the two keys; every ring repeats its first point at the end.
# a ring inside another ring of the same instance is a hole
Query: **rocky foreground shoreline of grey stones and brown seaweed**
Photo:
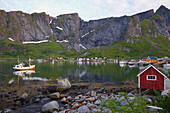
{"type": "Polygon", "coordinates": [[[28,87],[1,90],[1,112],[111,112],[101,102],[117,98],[119,92],[137,93],[135,81],[115,83],[73,83],[66,90],[58,89],[56,81],[28,87]],[[5,105],[7,104],[8,105],[5,105]],[[50,109],[49,109],[50,108],[50,109]]]}

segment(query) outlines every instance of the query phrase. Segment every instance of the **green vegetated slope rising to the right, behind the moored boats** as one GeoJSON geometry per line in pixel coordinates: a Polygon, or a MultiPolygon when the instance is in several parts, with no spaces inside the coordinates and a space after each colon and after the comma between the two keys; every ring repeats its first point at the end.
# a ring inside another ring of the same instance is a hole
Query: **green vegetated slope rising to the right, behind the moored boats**
{"type": "Polygon", "coordinates": [[[170,56],[170,41],[163,36],[158,38],[146,38],[146,37],[131,37],[130,42],[119,41],[114,42],[108,46],[101,46],[91,48],[87,51],[80,52],[82,57],[109,57],[109,58],[141,58],[148,55],[164,57],[170,56]]]}

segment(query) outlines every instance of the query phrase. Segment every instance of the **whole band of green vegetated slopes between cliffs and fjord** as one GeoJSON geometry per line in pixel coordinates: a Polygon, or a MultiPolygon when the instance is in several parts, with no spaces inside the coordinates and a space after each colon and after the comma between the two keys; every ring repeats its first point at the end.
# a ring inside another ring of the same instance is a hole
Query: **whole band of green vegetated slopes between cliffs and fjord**
{"type": "Polygon", "coordinates": [[[170,41],[160,35],[157,38],[131,37],[126,41],[114,42],[108,46],[94,47],[86,51],[67,51],[64,43],[47,42],[23,45],[8,39],[0,41],[0,56],[49,58],[62,56],[77,57],[108,57],[108,58],[141,58],[150,56],[170,57],[170,41]]]}

